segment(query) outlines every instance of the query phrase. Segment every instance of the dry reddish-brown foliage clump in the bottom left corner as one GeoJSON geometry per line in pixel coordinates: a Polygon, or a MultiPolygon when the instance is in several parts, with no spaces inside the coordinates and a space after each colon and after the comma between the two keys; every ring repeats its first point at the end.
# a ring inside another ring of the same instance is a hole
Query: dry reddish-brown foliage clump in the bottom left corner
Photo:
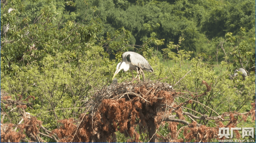
{"type": "Polygon", "coordinates": [[[2,124],[4,116],[7,115],[7,113],[1,112],[1,116],[3,115],[1,120],[1,142],[21,142],[21,140],[23,140],[23,142],[40,142],[38,133],[42,122],[37,120],[36,117],[30,117],[30,114],[25,112],[25,109],[27,106],[30,106],[31,103],[24,102],[28,102],[29,98],[35,98],[28,96],[25,100],[21,100],[22,96],[17,95],[18,99],[12,100],[11,96],[8,95],[8,93],[1,90],[1,103],[5,104],[5,108],[10,108],[10,111],[12,111],[15,106],[21,109],[18,112],[20,114],[19,116],[21,116],[21,120],[17,125],[11,123],[2,124]],[[13,129],[14,127],[15,129],[13,129]],[[25,139],[25,137],[27,138],[25,139]]]}

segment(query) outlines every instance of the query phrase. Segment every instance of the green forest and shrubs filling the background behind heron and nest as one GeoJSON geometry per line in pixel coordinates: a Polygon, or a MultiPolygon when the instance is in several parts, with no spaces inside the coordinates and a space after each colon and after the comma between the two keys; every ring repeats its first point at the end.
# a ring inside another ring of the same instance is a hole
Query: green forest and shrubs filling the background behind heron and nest
{"type": "MultiPolygon", "coordinates": [[[[211,92],[198,101],[219,114],[248,112],[255,102],[254,0],[1,0],[1,30],[7,24],[1,124],[17,125],[24,112],[50,131],[60,128],[59,120],[77,119],[83,104],[110,85],[126,51],[149,61],[154,72],[146,73],[148,80],[174,85],[191,70],[174,89],[200,94],[207,82],[211,92]],[[245,80],[241,73],[231,78],[238,68],[246,69],[245,80]]],[[[129,81],[131,72],[116,78],[129,81]]],[[[187,107],[215,114],[200,104],[187,107]]],[[[255,127],[255,120],[239,124],[255,127]]],[[[163,136],[168,132],[161,128],[163,136]]],[[[118,141],[127,140],[120,135],[118,141]]]]}

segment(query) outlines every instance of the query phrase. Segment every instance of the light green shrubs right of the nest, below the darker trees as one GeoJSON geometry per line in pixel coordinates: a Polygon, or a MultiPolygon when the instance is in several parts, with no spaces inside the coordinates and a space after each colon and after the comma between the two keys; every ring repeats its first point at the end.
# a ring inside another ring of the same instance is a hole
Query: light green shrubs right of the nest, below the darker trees
{"type": "MultiPolygon", "coordinates": [[[[180,43],[182,40],[184,39],[180,38],[180,43]]],[[[173,80],[175,83],[188,72],[182,81],[177,84],[176,88],[190,91],[196,95],[202,95],[206,88],[202,81],[205,81],[211,86],[211,91],[206,95],[198,97],[200,103],[214,109],[218,113],[226,112],[227,110],[230,112],[241,110],[241,112],[245,112],[249,110],[245,108],[245,105],[249,107],[254,99],[255,72],[246,78],[245,81],[243,81],[242,76],[238,76],[232,81],[228,76],[230,72],[227,68],[227,63],[222,62],[219,65],[220,73],[217,74],[212,67],[203,63],[202,57],[192,58],[189,62],[192,52],[179,50],[180,46],[174,45],[173,42],[170,42],[168,47],[168,49],[163,49],[163,51],[167,58],[171,58],[174,61],[172,66],[168,65],[169,72],[171,72],[171,75],[169,74],[170,76],[167,75],[168,79],[173,80]],[[172,49],[176,49],[178,54],[172,52],[172,49]],[[189,72],[190,70],[191,72],[189,72]]],[[[186,96],[185,99],[189,98],[191,98],[190,95],[186,96]]],[[[181,102],[184,101],[181,100],[181,102]]],[[[198,103],[192,103],[188,107],[195,111],[201,111],[201,114],[208,113],[209,116],[218,116],[212,111],[209,113],[205,110],[204,106],[198,103]]],[[[188,110],[188,112],[191,111],[188,110]]]]}

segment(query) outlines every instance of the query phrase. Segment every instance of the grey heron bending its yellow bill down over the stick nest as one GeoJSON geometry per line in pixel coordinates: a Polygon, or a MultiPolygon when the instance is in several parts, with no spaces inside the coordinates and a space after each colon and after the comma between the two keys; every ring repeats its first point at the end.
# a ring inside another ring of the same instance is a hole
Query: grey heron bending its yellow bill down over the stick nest
{"type": "MultiPolygon", "coordinates": [[[[117,73],[120,70],[123,70],[124,72],[128,71],[129,69],[132,70],[132,75],[133,75],[133,70],[137,71],[137,76],[139,77],[139,72],[143,74],[143,80],[144,80],[144,71],[147,72],[153,72],[153,68],[149,64],[149,62],[140,54],[135,53],[135,52],[124,52],[122,54],[122,61],[117,64],[116,66],[116,71],[113,75],[112,80],[115,78],[117,73]]],[[[136,77],[137,77],[136,76],[136,77]]],[[[133,76],[134,77],[134,76],[133,76]]]]}

